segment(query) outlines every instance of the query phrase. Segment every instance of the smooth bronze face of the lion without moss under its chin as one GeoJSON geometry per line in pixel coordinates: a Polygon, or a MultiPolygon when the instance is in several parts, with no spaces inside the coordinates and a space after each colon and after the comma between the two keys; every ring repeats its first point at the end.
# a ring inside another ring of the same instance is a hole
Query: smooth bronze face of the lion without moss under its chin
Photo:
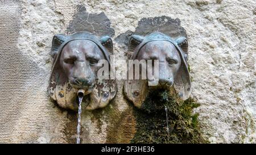
{"type": "Polygon", "coordinates": [[[74,40],[63,48],[60,65],[73,87],[91,91],[99,69],[97,62],[102,59],[104,55],[95,43],[74,40]]]}

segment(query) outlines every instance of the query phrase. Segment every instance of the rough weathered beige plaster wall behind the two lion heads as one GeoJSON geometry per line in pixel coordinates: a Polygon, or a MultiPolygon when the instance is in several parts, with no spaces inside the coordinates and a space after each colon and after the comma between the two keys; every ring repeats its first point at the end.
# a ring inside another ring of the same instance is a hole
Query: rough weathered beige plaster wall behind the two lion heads
{"type": "MultiPolygon", "coordinates": [[[[105,12],[113,39],[135,31],[144,17],[179,18],[189,38],[192,97],[201,104],[195,112],[204,136],[212,143],[256,143],[253,0],[0,1],[0,143],[75,143],[76,114],[51,102],[46,90],[52,36],[68,33],[78,5],[90,14],[105,12]]],[[[124,48],[114,41],[116,58],[126,59],[124,48]]],[[[118,81],[104,110],[83,112],[82,143],[129,142],[134,135],[122,86],[118,81]]]]}

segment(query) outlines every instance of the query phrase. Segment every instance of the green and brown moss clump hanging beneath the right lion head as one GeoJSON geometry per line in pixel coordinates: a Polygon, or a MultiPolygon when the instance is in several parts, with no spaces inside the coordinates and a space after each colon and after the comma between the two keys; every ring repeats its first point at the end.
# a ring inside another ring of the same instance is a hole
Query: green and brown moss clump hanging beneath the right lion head
{"type": "Polygon", "coordinates": [[[149,93],[141,110],[134,108],[137,132],[131,143],[208,143],[200,131],[199,114],[192,114],[193,108],[198,106],[195,100],[180,100],[166,90],[149,93]]]}

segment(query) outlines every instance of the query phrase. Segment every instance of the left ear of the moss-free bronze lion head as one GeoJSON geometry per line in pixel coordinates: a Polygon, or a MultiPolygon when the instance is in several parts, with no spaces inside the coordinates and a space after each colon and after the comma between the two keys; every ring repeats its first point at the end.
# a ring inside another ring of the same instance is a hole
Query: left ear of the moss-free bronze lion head
{"type": "Polygon", "coordinates": [[[51,56],[54,57],[59,52],[60,45],[67,40],[67,36],[64,34],[54,35],[52,38],[51,56]]]}

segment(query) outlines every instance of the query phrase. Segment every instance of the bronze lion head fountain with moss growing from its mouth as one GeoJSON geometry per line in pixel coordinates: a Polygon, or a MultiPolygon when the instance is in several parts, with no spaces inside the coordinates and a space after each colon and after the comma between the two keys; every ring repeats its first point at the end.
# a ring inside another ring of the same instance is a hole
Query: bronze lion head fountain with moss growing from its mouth
{"type": "MultiPolygon", "coordinates": [[[[125,95],[138,108],[147,97],[148,90],[170,89],[181,99],[189,97],[191,79],[188,71],[188,41],[180,36],[172,39],[161,32],[153,32],[147,36],[133,35],[129,40],[128,53],[133,60],[158,60],[159,75],[156,79],[128,79],[125,81],[125,95]]],[[[130,66],[131,67],[131,66],[130,66]]],[[[133,66],[132,66],[133,67],[133,66]]]]}

